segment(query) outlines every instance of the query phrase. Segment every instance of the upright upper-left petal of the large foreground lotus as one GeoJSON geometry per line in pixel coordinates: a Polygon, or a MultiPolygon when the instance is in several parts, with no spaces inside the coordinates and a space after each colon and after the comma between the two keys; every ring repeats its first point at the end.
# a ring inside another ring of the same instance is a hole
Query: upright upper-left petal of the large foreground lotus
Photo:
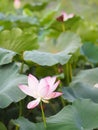
{"type": "Polygon", "coordinates": [[[37,89],[37,86],[38,86],[38,80],[35,76],[29,74],[28,76],[28,85],[29,87],[31,88],[34,88],[35,90],[37,89]]]}

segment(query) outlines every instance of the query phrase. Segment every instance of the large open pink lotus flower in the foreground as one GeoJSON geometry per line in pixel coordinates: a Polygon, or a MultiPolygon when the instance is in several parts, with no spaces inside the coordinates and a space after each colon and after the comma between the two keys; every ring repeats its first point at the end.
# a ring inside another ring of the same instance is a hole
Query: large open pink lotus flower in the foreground
{"type": "Polygon", "coordinates": [[[27,108],[35,108],[40,101],[48,103],[49,99],[61,96],[61,92],[54,92],[60,81],[56,81],[56,77],[45,77],[38,81],[35,76],[29,74],[28,86],[19,85],[19,88],[27,95],[35,98],[35,100],[28,103],[27,108]]]}

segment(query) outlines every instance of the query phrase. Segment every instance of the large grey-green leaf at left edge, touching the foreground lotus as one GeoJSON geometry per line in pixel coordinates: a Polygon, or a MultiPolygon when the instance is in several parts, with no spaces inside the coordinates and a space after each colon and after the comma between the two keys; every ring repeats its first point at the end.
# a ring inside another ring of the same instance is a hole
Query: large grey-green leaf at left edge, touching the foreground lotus
{"type": "Polygon", "coordinates": [[[25,97],[18,85],[27,83],[26,79],[25,75],[19,74],[19,67],[15,64],[0,67],[0,108],[25,97]]]}

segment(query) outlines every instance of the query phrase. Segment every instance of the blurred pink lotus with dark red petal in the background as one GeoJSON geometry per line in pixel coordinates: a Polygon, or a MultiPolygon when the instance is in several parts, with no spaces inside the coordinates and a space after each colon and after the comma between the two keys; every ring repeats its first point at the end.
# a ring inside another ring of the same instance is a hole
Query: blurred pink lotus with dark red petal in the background
{"type": "Polygon", "coordinates": [[[64,22],[73,17],[74,17],[74,14],[67,14],[66,12],[63,11],[61,15],[57,17],[57,20],[60,22],[64,22]]]}

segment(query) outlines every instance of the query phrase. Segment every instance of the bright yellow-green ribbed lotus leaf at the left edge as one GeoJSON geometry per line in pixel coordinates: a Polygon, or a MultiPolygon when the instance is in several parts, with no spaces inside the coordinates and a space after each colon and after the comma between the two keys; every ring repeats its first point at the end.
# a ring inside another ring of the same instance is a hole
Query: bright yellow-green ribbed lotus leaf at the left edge
{"type": "Polygon", "coordinates": [[[23,52],[25,50],[37,49],[37,38],[35,34],[23,32],[20,28],[13,28],[0,32],[0,47],[23,52]]]}

